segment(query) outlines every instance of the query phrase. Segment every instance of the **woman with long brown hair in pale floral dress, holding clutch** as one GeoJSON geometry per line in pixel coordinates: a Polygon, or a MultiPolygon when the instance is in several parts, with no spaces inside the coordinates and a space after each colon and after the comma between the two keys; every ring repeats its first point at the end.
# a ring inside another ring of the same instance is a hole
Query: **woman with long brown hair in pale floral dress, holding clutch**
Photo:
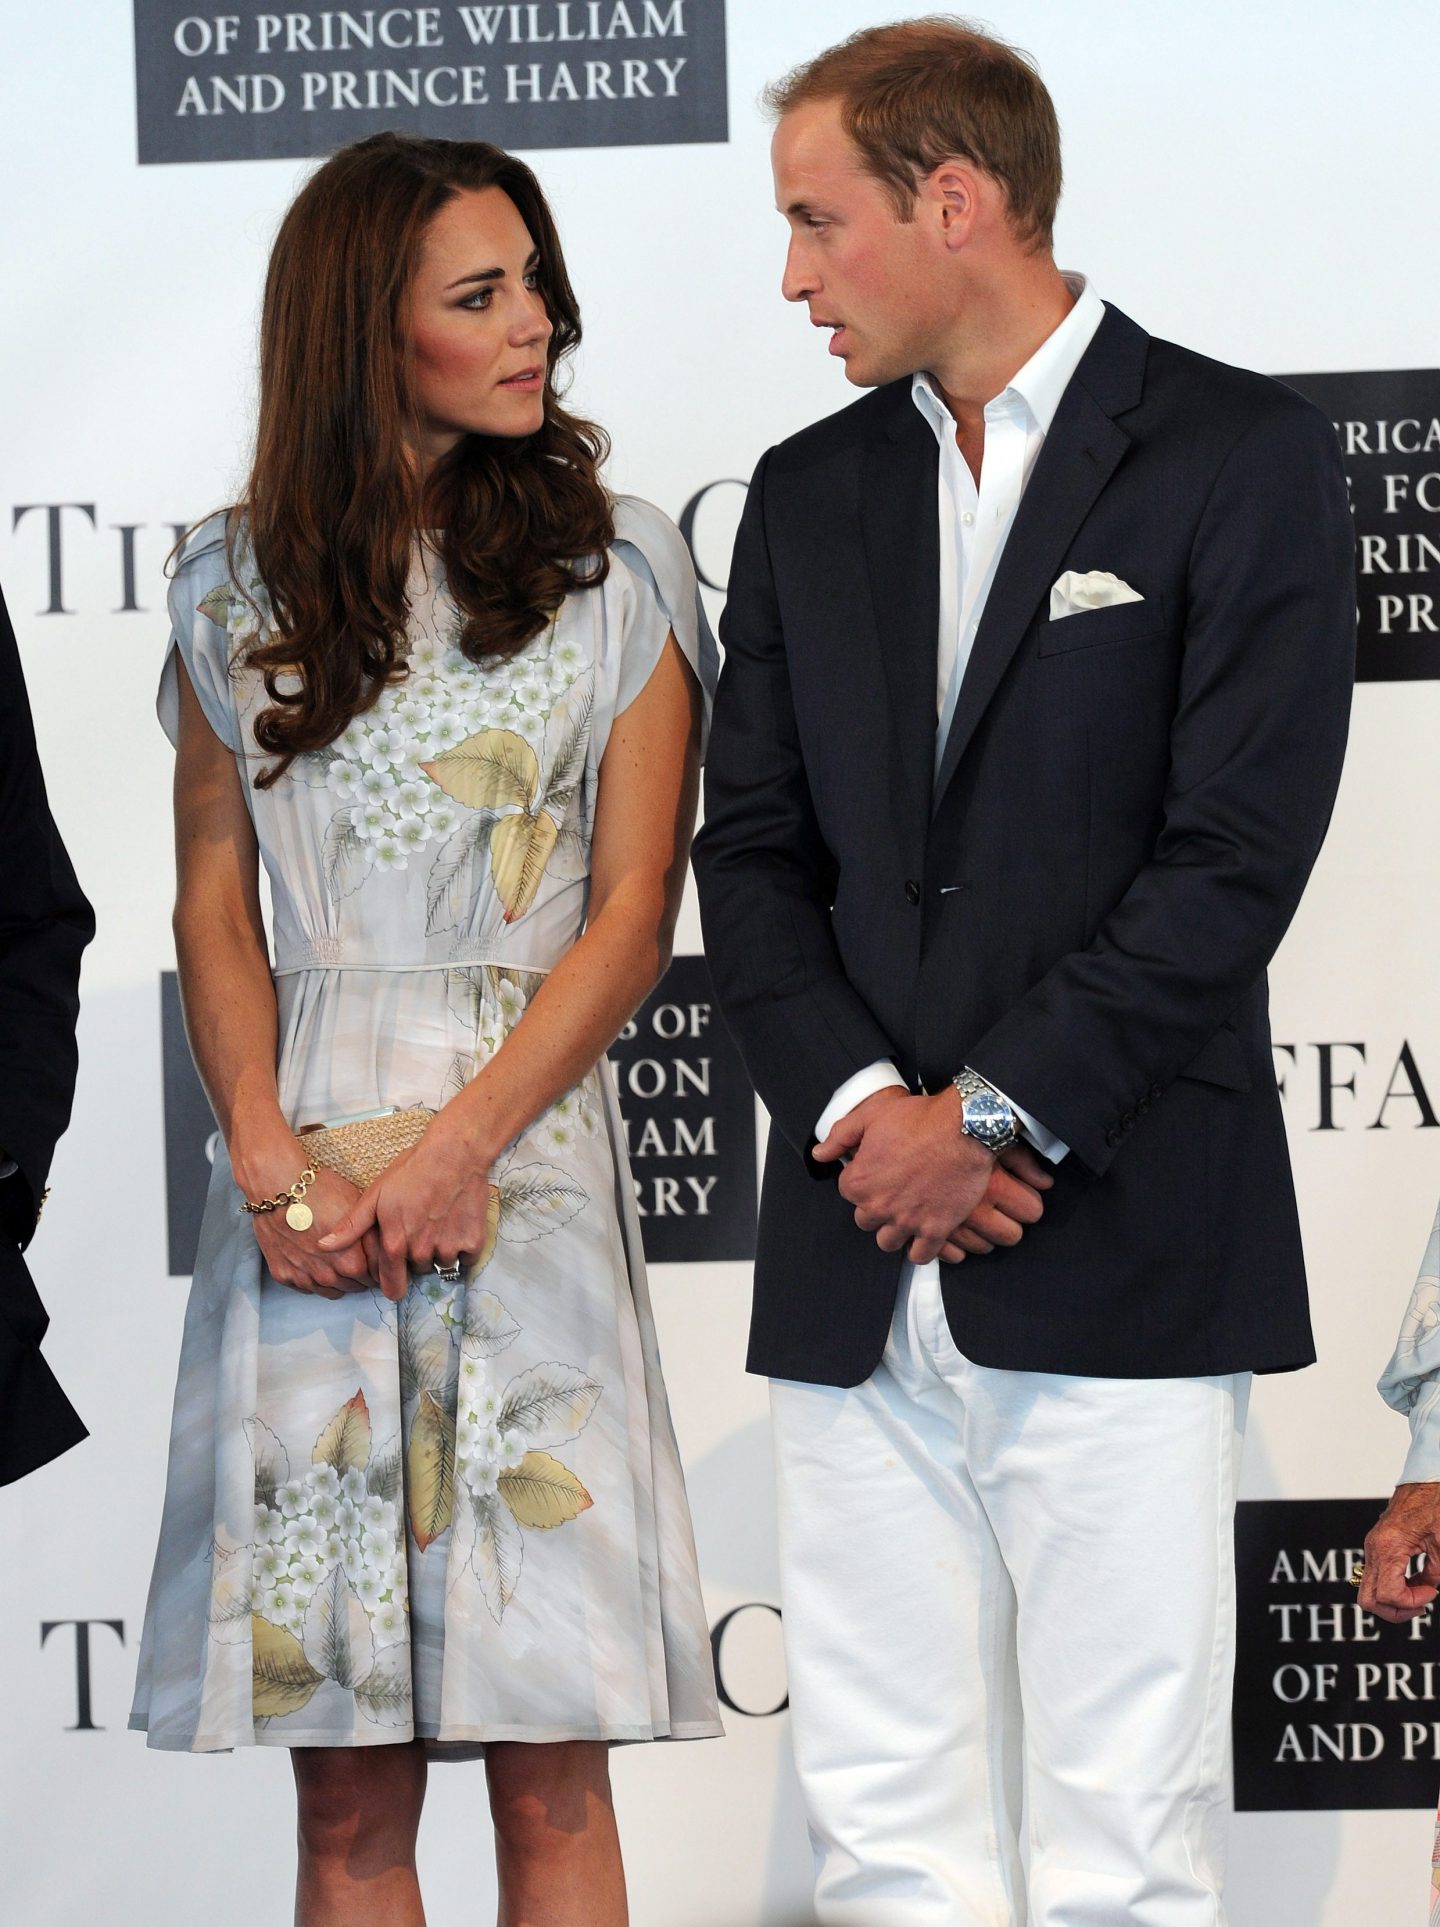
{"type": "Polygon", "coordinates": [[[603,1064],[669,958],[713,644],[561,405],[578,339],[519,160],[341,150],[274,247],[245,497],[172,584],[224,1148],[131,1723],[291,1750],[307,1927],[424,1919],[426,1761],[476,1754],[501,1923],[619,1927],[607,1744],[719,1732],[603,1064]]]}

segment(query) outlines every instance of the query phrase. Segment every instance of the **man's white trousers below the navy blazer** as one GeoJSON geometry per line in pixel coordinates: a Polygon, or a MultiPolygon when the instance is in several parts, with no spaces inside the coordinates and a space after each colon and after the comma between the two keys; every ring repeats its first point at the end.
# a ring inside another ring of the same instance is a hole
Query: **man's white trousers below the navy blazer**
{"type": "Polygon", "coordinates": [[[1218,1927],[1249,1374],[771,1384],[819,1927],[1218,1927]],[[1024,1840],[1024,1850],[1022,1850],[1024,1840]]]}

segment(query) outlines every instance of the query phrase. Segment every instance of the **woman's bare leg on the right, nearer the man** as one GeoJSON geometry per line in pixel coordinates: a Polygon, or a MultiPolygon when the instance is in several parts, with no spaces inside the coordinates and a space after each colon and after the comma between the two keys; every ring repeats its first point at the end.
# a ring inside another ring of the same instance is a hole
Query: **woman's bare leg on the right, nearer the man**
{"type": "Polygon", "coordinates": [[[486,1748],[497,1927],[627,1927],[625,1867],[598,1740],[486,1748]]]}

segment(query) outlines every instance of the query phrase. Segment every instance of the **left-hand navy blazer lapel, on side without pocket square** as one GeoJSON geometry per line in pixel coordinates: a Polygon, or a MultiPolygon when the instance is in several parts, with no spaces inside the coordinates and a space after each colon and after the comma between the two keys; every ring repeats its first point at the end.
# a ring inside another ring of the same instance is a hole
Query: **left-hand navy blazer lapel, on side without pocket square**
{"type": "Polygon", "coordinates": [[[860,526],[891,698],[891,807],[900,848],[920,856],[935,771],[939,447],[908,382],[896,383],[889,422],[864,453],[860,526]]]}

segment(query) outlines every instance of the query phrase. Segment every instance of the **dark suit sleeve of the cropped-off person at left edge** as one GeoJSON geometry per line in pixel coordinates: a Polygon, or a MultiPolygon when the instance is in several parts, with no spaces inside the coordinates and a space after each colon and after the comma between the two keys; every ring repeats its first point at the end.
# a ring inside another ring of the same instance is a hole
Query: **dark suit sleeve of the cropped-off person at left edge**
{"type": "Polygon", "coordinates": [[[50,817],[15,636],[0,599],[0,1224],[19,1245],[75,1091],[79,962],[94,935],[50,817]]]}

